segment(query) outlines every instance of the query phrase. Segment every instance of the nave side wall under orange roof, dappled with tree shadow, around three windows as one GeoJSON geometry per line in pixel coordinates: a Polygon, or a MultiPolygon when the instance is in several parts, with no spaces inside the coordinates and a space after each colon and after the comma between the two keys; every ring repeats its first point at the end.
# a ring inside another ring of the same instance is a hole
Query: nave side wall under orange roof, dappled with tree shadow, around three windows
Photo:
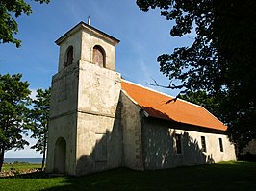
{"type": "Polygon", "coordinates": [[[236,160],[234,145],[229,142],[227,135],[182,130],[180,125],[175,127],[174,123],[155,119],[145,119],[142,144],[145,169],[236,160]],[[175,133],[181,134],[181,154],[176,153],[175,133]],[[201,136],[206,140],[206,152],[201,150],[201,136]],[[222,139],[223,152],[220,152],[218,138],[222,139]]]}

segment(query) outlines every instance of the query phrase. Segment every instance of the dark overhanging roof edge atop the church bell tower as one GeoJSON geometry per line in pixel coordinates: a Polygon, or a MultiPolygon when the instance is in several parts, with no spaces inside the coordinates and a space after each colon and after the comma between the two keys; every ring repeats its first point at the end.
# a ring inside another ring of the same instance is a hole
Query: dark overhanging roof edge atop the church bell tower
{"type": "Polygon", "coordinates": [[[74,26],[72,29],[70,29],[68,32],[66,32],[64,34],[64,36],[61,36],[60,38],[58,38],[55,43],[57,45],[60,45],[64,39],[68,36],[71,36],[73,33],[77,32],[80,29],[84,29],[86,31],[89,31],[93,34],[95,34],[96,36],[100,36],[105,38],[106,40],[110,41],[111,43],[113,43],[114,45],[118,44],[120,42],[120,40],[116,39],[113,36],[110,36],[94,27],[91,27],[90,25],[86,24],[85,22],[81,21],[80,23],[78,23],[76,26],[74,26]]]}

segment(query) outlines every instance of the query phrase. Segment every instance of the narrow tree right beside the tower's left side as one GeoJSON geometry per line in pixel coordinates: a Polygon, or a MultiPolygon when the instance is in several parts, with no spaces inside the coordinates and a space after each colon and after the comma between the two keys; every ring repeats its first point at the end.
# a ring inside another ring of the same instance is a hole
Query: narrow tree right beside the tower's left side
{"type": "Polygon", "coordinates": [[[38,89],[36,99],[32,101],[33,109],[31,110],[29,121],[30,129],[33,132],[31,138],[38,139],[37,143],[31,147],[42,154],[41,168],[44,167],[46,156],[46,147],[48,140],[48,122],[50,111],[51,89],[38,89]]]}

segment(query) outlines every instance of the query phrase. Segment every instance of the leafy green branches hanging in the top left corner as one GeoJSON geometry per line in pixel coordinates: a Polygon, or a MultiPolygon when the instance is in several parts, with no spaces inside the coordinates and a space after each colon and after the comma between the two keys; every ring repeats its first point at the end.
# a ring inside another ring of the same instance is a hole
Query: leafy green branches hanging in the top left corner
{"type": "MultiPolygon", "coordinates": [[[[36,2],[49,3],[50,0],[35,0],[36,2]]],[[[21,40],[13,37],[18,33],[18,24],[13,18],[21,14],[30,15],[31,6],[24,0],[1,0],[0,1],[0,43],[13,43],[20,47],[21,40]]]]}

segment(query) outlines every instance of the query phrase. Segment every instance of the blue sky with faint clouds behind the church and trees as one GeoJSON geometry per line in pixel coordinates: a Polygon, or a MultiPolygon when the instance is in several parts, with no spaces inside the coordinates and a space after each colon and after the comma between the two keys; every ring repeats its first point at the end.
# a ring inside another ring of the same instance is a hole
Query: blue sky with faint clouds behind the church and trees
{"type": "MultiPolygon", "coordinates": [[[[116,71],[128,81],[148,86],[152,78],[159,84],[168,79],[159,71],[157,57],[171,53],[175,47],[192,43],[192,35],[171,37],[173,25],[160,15],[159,10],[140,11],[136,1],[129,0],[52,0],[48,5],[31,3],[33,14],[17,19],[22,40],[21,48],[13,44],[0,44],[0,73],[22,73],[30,89],[47,88],[57,72],[59,47],[55,40],[80,21],[120,40],[116,46],[116,71]]],[[[178,91],[153,87],[170,95],[178,91]]],[[[31,144],[35,140],[28,139],[31,144]]],[[[5,157],[40,157],[26,147],[22,151],[9,151],[5,157]]]]}

